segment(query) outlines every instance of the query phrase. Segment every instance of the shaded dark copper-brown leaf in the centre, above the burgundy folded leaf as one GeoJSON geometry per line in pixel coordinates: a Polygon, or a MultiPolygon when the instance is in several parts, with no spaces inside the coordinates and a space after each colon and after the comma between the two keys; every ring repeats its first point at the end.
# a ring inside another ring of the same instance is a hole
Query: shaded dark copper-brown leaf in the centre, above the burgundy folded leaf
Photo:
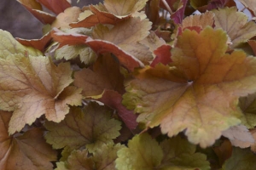
{"type": "Polygon", "coordinates": [[[93,69],[84,68],[74,75],[74,84],[83,88],[85,97],[102,94],[105,89],[124,92],[124,77],[119,71],[119,62],[108,54],[96,60],[93,69]]]}

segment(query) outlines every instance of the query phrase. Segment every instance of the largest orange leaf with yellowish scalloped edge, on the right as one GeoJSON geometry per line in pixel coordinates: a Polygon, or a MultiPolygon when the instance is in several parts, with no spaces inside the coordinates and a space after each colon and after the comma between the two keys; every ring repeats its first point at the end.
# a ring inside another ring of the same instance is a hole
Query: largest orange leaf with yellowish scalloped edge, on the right
{"type": "Polygon", "coordinates": [[[224,31],[183,31],[172,48],[172,65],[137,70],[123,104],[140,113],[138,122],[160,125],[169,137],[185,132],[193,144],[212,145],[241,122],[241,96],[256,91],[256,59],[242,51],[225,54],[224,31]]]}

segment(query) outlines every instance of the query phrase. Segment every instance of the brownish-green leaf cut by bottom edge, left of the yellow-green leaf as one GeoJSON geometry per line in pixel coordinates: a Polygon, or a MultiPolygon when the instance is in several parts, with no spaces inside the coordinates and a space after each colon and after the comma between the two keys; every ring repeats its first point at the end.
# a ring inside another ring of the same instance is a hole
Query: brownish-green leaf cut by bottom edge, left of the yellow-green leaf
{"type": "Polygon", "coordinates": [[[115,170],[117,151],[121,148],[124,146],[109,143],[100,145],[93,153],[73,150],[67,161],[57,163],[56,170],[115,170]]]}

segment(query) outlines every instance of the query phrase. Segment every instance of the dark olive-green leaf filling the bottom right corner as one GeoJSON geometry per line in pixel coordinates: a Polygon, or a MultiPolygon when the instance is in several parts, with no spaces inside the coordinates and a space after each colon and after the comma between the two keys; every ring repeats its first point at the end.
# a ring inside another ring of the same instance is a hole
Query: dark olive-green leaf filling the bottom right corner
{"type": "Polygon", "coordinates": [[[254,170],[256,169],[256,156],[249,149],[233,148],[232,156],[225,161],[223,170],[254,170]]]}

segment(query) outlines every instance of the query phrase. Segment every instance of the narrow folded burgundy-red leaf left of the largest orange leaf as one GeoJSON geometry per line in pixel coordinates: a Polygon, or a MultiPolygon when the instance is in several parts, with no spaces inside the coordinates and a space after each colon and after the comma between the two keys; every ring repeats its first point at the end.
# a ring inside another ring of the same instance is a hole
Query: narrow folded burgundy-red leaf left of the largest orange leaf
{"type": "Polygon", "coordinates": [[[126,127],[135,129],[137,127],[137,116],[133,111],[129,111],[122,105],[122,95],[113,90],[105,90],[101,95],[93,96],[92,99],[101,101],[104,105],[108,105],[118,111],[119,117],[125,122],[126,127]]]}

